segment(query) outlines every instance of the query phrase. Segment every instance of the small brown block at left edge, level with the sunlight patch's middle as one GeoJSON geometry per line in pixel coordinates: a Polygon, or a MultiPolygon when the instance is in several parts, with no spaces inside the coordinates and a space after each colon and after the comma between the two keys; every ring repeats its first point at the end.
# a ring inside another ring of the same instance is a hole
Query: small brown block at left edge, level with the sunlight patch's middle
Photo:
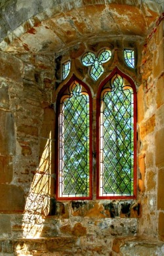
{"type": "Polygon", "coordinates": [[[0,156],[0,183],[7,183],[12,181],[12,157],[0,156]]]}

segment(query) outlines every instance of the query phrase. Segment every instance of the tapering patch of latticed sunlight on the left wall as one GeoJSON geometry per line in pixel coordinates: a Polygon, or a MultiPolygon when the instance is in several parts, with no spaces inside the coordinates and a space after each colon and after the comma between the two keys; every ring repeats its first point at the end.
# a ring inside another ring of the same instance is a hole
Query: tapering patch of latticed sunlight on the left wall
{"type": "Polygon", "coordinates": [[[33,177],[22,221],[24,238],[40,238],[49,213],[51,191],[51,132],[33,177]]]}

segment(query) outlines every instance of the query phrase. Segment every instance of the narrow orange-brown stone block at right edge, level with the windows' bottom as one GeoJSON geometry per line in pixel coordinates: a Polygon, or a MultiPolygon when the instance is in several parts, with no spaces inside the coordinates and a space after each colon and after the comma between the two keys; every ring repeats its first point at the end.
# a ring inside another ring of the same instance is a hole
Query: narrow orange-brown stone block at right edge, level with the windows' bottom
{"type": "Polygon", "coordinates": [[[164,211],[163,181],[164,181],[164,167],[158,171],[158,182],[157,182],[157,209],[162,211],[164,211]]]}

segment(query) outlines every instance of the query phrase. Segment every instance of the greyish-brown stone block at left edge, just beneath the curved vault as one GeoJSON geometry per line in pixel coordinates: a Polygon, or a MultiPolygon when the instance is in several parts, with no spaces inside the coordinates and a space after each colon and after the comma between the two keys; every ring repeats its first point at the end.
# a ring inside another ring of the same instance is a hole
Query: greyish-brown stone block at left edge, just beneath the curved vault
{"type": "Polygon", "coordinates": [[[23,77],[22,61],[9,53],[2,52],[0,52],[0,60],[0,77],[21,83],[23,77]]]}

